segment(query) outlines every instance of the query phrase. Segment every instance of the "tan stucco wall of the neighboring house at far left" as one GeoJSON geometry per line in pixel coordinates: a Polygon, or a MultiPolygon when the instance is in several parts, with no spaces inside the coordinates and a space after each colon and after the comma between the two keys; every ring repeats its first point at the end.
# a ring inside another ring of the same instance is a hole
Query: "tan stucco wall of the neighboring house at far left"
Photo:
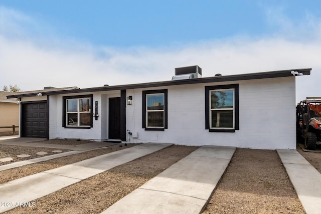
{"type": "MultiPolygon", "coordinates": [[[[19,126],[19,105],[16,102],[0,102],[0,127],[12,125],[19,126]]],[[[0,129],[0,132],[7,131],[12,131],[12,128],[0,129]]]]}

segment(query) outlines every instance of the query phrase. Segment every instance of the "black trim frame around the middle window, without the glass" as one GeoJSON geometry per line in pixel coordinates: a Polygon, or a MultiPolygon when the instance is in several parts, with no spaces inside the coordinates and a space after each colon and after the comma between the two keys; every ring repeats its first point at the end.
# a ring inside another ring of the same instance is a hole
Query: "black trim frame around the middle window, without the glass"
{"type": "Polygon", "coordinates": [[[142,128],[146,131],[164,131],[168,128],[168,113],[167,113],[167,89],[161,90],[148,90],[142,91],[142,128]],[[146,127],[146,94],[156,94],[156,93],[164,93],[164,128],[147,128],[146,127]]]}

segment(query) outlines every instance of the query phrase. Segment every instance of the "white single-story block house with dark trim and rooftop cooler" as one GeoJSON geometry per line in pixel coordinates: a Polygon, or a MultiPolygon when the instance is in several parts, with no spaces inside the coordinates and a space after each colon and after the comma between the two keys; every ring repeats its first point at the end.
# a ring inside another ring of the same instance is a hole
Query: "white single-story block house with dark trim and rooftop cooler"
{"type": "Polygon", "coordinates": [[[41,101],[37,92],[8,98],[22,101],[22,137],[294,149],[294,75],[310,71],[201,78],[192,66],[176,69],[171,81],[48,91],[41,101]],[[49,109],[48,127],[29,135],[27,106],[40,104],[49,109]]]}

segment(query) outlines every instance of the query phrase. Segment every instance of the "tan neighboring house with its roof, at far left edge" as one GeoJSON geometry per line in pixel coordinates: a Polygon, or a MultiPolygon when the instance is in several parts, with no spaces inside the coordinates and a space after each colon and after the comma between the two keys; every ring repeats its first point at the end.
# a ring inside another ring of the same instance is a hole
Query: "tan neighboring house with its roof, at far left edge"
{"type": "MultiPolygon", "coordinates": [[[[16,99],[7,99],[13,92],[0,91],[0,132],[12,132],[13,128],[1,128],[6,126],[19,125],[19,106],[16,99]]],[[[16,129],[18,133],[18,127],[16,129]]]]}

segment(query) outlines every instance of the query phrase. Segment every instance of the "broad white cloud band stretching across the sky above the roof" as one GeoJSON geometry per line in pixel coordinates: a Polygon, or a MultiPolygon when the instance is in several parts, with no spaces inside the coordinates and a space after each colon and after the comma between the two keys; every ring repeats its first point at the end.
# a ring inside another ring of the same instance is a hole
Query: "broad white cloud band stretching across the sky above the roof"
{"type": "Polygon", "coordinates": [[[268,12],[282,30],[263,38],[235,36],[176,47],[117,49],[62,38],[39,43],[37,37],[26,37],[30,33],[24,34],[21,28],[22,23],[34,23],[33,19],[4,8],[0,14],[4,18],[0,19],[1,89],[10,84],[27,91],[45,86],[88,88],[165,81],[171,80],[176,67],[199,65],[204,77],[312,68],[311,76],[297,78],[297,100],[321,96],[315,91],[321,77],[321,22],[312,15],[294,24],[280,12],[277,16],[268,12]],[[289,37],[293,32],[295,37],[289,37]],[[18,36],[12,39],[13,34],[18,36]]]}

